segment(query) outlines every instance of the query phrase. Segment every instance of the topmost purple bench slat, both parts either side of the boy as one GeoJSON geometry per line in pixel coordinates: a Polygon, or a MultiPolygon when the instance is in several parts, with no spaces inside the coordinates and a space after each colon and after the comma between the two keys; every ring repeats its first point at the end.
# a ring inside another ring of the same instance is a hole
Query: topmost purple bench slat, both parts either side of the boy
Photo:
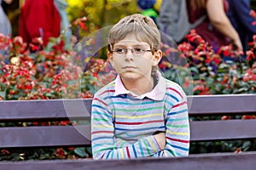
{"type": "MultiPolygon", "coordinates": [[[[256,94],[188,96],[189,116],[256,114],[255,101],[256,94]]],[[[91,99],[0,101],[0,122],[88,120],[90,105],[91,99]]]]}

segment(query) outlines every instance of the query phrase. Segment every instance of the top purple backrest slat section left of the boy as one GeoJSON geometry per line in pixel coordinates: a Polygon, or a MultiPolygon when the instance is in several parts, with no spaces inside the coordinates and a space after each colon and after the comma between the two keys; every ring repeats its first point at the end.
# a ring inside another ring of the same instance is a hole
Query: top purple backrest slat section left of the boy
{"type": "Polygon", "coordinates": [[[90,119],[91,99],[0,101],[0,122],[90,119]]]}

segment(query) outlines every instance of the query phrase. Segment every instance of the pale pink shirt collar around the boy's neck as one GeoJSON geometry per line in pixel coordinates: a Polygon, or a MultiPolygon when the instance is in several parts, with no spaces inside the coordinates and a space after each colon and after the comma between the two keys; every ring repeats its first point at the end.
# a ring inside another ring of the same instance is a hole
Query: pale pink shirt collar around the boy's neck
{"type": "Polygon", "coordinates": [[[166,81],[165,78],[161,76],[160,71],[156,72],[156,77],[158,79],[158,82],[153,90],[146,94],[137,95],[132,93],[131,91],[127,90],[121,81],[121,77],[118,75],[115,79],[115,93],[114,96],[120,95],[120,94],[131,94],[136,99],[143,99],[145,97],[149,99],[154,100],[162,100],[165,97],[166,94],[166,81]]]}

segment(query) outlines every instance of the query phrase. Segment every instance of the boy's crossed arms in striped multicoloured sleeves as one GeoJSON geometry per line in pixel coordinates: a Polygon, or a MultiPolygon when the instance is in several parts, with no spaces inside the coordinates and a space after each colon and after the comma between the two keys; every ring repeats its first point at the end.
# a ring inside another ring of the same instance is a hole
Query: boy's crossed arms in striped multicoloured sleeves
{"type": "Polygon", "coordinates": [[[91,141],[94,159],[128,159],[147,156],[188,156],[189,118],[186,99],[181,100],[166,115],[166,132],[152,134],[129,142],[117,139],[108,105],[94,99],[91,112],[91,141]],[[116,145],[122,142],[122,147],[116,145]]]}

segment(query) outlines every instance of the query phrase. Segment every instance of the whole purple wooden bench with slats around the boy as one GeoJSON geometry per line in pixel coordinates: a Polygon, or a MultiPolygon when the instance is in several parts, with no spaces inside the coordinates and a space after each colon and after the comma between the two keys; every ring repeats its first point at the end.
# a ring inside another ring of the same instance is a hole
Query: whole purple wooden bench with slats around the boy
{"type": "MultiPolygon", "coordinates": [[[[189,116],[256,115],[256,94],[189,96],[189,116]]],[[[90,122],[91,99],[0,101],[0,122],[90,122]]],[[[256,139],[256,119],[192,121],[191,142],[256,139]]],[[[0,127],[0,150],[90,146],[90,124],[0,127]]],[[[254,169],[256,151],[136,160],[0,161],[0,169],[254,169]]]]}

